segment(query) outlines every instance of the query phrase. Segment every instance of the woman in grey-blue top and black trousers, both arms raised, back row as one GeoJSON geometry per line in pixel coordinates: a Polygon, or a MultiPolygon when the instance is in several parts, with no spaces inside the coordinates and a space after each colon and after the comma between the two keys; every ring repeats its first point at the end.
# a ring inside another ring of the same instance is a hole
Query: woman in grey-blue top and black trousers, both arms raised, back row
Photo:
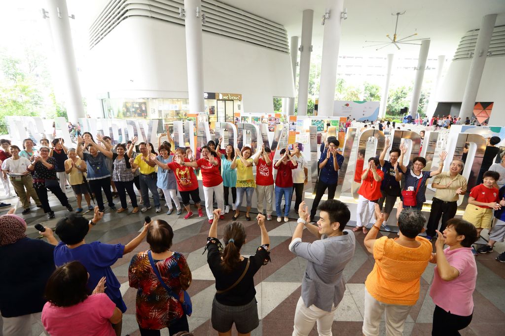
{"type": "MultiPolygon", "coordinates": [[[[102,137],[97,136],[98,141],[102,140],[102,137]]],[[[78,145],[85,143],[88,146],[89,153],[83,153],[82,147],[77,146],[77,155],[86,161],[87,176],[86,179],[89,181],[89,186],[96,198],[96,204],[100,212],[105,210],[104,198],[102,197],[102,189],[104,189],[105,196],[109,201],[109,207],[111,210],[116,211],[114,206],[114,201],[112,200],[111,193],[111,172],[107,169],[106,156],[98,152],[98,145],[95,144],[93,139],[82,137],[77,137],[78,145]]]]}

